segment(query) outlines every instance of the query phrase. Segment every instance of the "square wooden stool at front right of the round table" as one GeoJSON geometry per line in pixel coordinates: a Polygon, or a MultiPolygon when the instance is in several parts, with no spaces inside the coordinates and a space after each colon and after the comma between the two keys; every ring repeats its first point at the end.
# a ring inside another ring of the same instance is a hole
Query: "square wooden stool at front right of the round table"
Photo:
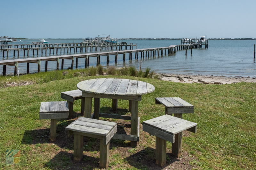
{"type": "Polygon", "coordinates": [[[172,154],[179,158],[182,152],[182,131],[196,133],[197,124],[170,115],[156,117],[143,122],[143,131],[156,136],[156,164],[166,163],[166,141],[172,143],[172,154]]]}

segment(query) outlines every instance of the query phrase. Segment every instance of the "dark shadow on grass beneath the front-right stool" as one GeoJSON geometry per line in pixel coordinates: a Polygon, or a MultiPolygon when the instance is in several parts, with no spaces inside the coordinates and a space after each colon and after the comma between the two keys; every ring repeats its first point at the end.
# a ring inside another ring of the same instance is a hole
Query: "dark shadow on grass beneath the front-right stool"
{"type": "Polygon", "coordinates": [[[169,166],[175,161],[180,161],[174,157],[171,153],[166,153],[166,164],[163,167],[156,165],[156,150],[153,148],[145,148],[137,153],[132,154],[129,157],[125,158],[125,161],[129,165],[134,166],[138,169],[154,169],[160,170],[165,169],[164,167],[169,166]]]}

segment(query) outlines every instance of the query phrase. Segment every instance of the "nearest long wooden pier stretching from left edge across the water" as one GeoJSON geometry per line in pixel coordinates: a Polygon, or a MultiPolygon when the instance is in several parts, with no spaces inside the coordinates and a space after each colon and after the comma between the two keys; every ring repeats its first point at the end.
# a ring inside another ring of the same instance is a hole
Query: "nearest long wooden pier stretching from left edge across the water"
{"type": "MultiPolygon", "coordinates": [[[[74,47],[76,47],[76,46],[74,46],[74,47]]],[[[205,48],[206,47],[208,48],[208,44],[205,44],[205,48]]],[[[100,53],[83,53],[83,54],[49,56],[49,57],[27,58],[27,59],[2,60],[2,61],[0,61],[0,65],[4,65],[3,75],[6,75],[6,65],[14,66],[14,75],[17,75],[18,63],[27,63],[27,74],[29,74],[29,63],[36,63],[37,67],[38,67],[37,70],[38,70],[38,72],[40,72],[41,61],[46,61],[45,62],[45,71],[47,71],[48,61],[56,61],[57,62],[56,69],[59,70],[60,59],[61,59],[61,69],[63,69],[64,60],[72,60],[70,68],[73,69],[75,58],[76,58],[76,68],[78,65],[77,64],[78,58],[85,58],[85,68],[87,68],[89,66],[90,57],[97,57],[96,65],[98,66],[98,64],[100,63],[100,56],[107,56],[107,64],[108,64],[109,63],[109,55],[115,55],[115,62],[117,63],[118,54],[123,54],[123,61],[125,61],[126,53],[129,53],[129,60],[132,60],[133,53],[135,53],[135,59],[138,59],[139,52],[140,52],[141,58],[142,57],[144,58],[144,56],[149,57],[149,53],[150,53],[150,56],[156,56],[156,52],[157,52],[157,56],[160,56],[160,53],[161,53],[161,55],[169,54],[169,53],[176,53],[176,50],[186,50],[186,55],[187,55],[187,50],[191,49],[191,54],[192,54],[193,48],[202,48],[202,44],[172,45],[172,46],[168,46],[168,47],[158,47],[158,48],[145,48],[145,49],[134,49],[134,50],[130,49],[130,50],[100,52],[100,53]]],[[[18,53],[19,53],[19,51],[18,51],[18,53]]]]}

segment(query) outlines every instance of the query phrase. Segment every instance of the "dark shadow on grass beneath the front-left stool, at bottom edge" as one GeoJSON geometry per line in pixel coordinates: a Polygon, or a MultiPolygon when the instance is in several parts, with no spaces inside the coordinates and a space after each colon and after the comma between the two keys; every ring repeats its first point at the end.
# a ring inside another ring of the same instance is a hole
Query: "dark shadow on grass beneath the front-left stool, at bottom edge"
{"type": "Polygon", "coordinates": [[[49,169],[94,169],[99,168],[99,158],[83,155],[81,161],[75,161],[73,153],[59,152],[50,161],[44,164],[49,169]]]}

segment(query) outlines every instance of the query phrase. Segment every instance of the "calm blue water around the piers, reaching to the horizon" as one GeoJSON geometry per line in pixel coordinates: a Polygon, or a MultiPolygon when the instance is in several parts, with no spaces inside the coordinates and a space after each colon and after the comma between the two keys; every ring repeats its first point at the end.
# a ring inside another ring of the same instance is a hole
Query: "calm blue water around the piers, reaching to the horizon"
{"type": "MultiPolygon", "coordinates": [[[[45,39],[46,40],[46,39],[45,39]]],[[[38,40],[27,40],[27,42],[21,41],[21,44],[31,44],[31,42],[38,40]]],[[[46,40],[48,43],[80,43],[81,40],[66,39],[66,40],[46,40]]],[[[124,42],[137,43],[137,49],[141,48],[153,48],[153,47],[166,47],[170,45],[180,44],[180,40],[123,40],[124,42]]],[[[20,44],[20,42],[13,42],[13,44],[20,44]]],[[[193,49],[193,54],[190,54],[188,50],[188,55],[185,56],[185,50],[176,51],[169,55],[154,56],[154,57],[144,57],[135,60],[135,53],[133,53],[133,60],[129,61],[129,54],[126,55],[126,61],[123,62],[123,54],[118,55],[117,64],[115,63],[115,55],[110,55],[109,66],[124,67],[124,66],[136,66],[140,67],[140,61],[142,61],[142,67],[152,67],[156,72],[161,73],[176,73],[176,74],[204,74],[204,75],[224,75],[224,76],[251,76],[256,77],[256,61],[253,58],[253,44],[256,44],[255,40],[209,40],[209,48],[193,49]]],[[[67,50],[65,54],[67,55],[67,50]]],[[[58,50],[60,53],[60,51],[58,50]]],[[[62,50],[63,52],[63,50],[62,50]]],[[[27,55],[27,51],[25,52],[27,55]]],[[[36,51],[35,51],[36,53],[36,51]]],[[[45,54],[45,51],[43,51],[45,54]]],[[[75,53],[75,54],[79,54],[75,53]]],[[[9,57],[3,58],[3,52],[0,51],[0,60],[13,60],[13,59],[23,59],[23,58],[37,58],[44,57],[39,51],[39,56],[32,55],[33,50],[29,51],[29,56],[23,57],[23,50],[20,51],[20,57],[13,57],[13,51],[9,51],[9,57]]],[[[73,49],[71,53],[74,54],[73,49]]],[[[49,55],[49,50],[47,51],[47,56],[49,55]]],[[[100,56],[100,64],[107,66],[107,56],[100,56]]],[[[44,71],[45,61],[41,61],[41,71],[44,71]]],[[[78,68],[83,68],[85,64],[85,59],[78,58],[78,68]]],[[[96,57],[90,57],[90,66],[96,66],[96,57]]],[[[64,69],[71,67],[71,60],[64,61],[64,69]]],[[[75,63],[74,63],[75,67],[75,63]]],[[[14,72],[14,66],[6,67],[7,73],[14,72]]],[[[61,61],[60,61],[61,68],[61,61]]],[[[27,64],[20,63],[18,66],[20,73],[26,73],[27,64]]],[[[48,71],[56,69],[56,62],[48,62],[48,71]]],[[[0,70],[2,72],[3,65],[0,65],[0,70]]],[[[37,72],[37,64],[30,63],[30,72],[37,72]]]]}

